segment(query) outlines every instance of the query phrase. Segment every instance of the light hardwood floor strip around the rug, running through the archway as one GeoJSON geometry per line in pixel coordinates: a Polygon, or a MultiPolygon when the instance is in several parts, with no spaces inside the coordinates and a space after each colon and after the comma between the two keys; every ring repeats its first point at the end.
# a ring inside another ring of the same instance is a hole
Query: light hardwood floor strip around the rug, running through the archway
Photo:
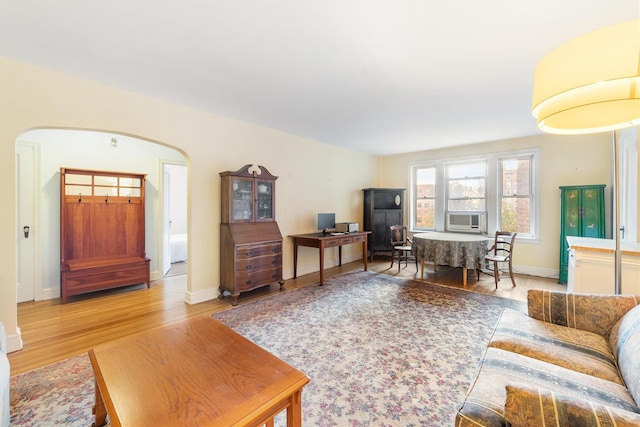
{"type": "MultiPolygon", "coordinates": [[[[361,268],[361,262],[353,262],[327,269],[325,280],[361,268]]],[[[390,268],[389,258],[381,257],[369,263],[369,270],[409,279],[419,278],[415,264],[409,263],[408,267],[403,264],[398,273],[397,264],[390,268]]],[[[290,279],[286,281],[286,291],[315,286],[318,281],[318,273],[290,279]]],[[[434,273],[429,265],[425,265],[425,281],[462,288],[462,269],[438,267],[434,273]]],[[[492,276],[481,274],[477,281],[469,272],[467,289],[520,301],[526,301],[527,290],[531,288],[566,290],[555,280],[531,276],[518,275],[516,283],[514,288],[507,276],[496,290],[492,276]]],[[[70,297],[67,304],[61,304],[60,299],[18,304],[18,326],[24,348],[9,354],[11,375],[85,353],[105,341],[231,308],[230,298],[189,305],[184,302],[185,290],[186,276],[177,275],[152,282],[149,289],[138,285],[96,292],[70,297]]],[[[272,285],[242,294],[238,301],[242,304],[278,292],[279,286],[272,285]]]]}

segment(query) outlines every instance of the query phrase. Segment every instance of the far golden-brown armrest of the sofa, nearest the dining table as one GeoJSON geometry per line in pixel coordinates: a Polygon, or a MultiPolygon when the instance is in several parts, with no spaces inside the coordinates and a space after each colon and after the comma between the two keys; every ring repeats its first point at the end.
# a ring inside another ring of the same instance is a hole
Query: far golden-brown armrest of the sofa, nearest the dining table
{"type": "Polygon", "coordinates": [[[529,317],[582,329],[609,339],[613,325],[636,305],[640,296],[580,294],[530,289],[529,317]]]}

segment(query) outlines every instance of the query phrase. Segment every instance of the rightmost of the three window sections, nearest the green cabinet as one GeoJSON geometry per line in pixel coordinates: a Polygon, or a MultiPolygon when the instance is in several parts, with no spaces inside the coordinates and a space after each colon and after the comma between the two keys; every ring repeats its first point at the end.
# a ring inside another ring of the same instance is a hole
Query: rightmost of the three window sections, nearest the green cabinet
{"type": "Polygon", "coordinates": [[[503,231],[530,235],[533,214],[531,172],[533,155],[502,157],[498,159],[498,196],[500,223],[503,231]]]}

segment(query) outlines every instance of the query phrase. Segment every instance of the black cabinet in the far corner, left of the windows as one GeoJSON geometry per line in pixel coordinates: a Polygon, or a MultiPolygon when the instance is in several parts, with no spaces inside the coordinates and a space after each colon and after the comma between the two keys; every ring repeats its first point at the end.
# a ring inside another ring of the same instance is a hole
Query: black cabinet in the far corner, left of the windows
{"type": "Polygon", "coordinates": [[[371,260],[376,252],[391,253],[389,227],[404,220],[404,188],[365,188],[364,231],[371,231],[368,246],[371,260]]]}

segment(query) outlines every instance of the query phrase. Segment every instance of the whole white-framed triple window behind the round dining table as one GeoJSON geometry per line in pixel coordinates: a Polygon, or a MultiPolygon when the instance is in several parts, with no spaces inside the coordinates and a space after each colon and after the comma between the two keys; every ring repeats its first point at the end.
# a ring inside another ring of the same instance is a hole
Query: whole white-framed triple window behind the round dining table
{"type": "Polygon", "coordinates": [[[487,232],[535,239],[539,151],[444,159],[410,166],[410,227],[445,230],[445,214],[486,212],[487,232]]]}

